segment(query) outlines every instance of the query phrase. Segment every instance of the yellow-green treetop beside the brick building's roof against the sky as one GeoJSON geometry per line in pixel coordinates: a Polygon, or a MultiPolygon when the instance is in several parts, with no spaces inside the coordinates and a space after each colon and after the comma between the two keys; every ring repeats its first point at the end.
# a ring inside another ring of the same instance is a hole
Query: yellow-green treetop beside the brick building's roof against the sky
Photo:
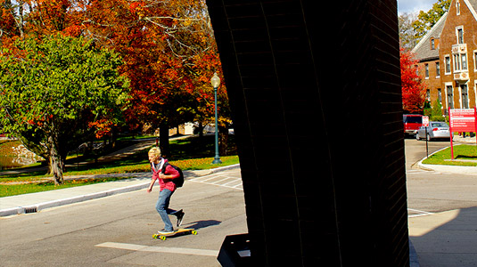
{"type": "Polygon", "coordinates": [[[437,23],[437,21],[445,12],[448,12],[450,2],[451,0],[438,0],[432,5],[432,9],[430,9],[428,12],[419,12],[417,20],[413,22],[415,36],[418,40],[421,39],[432,28],[432,26],[437,23]]]}

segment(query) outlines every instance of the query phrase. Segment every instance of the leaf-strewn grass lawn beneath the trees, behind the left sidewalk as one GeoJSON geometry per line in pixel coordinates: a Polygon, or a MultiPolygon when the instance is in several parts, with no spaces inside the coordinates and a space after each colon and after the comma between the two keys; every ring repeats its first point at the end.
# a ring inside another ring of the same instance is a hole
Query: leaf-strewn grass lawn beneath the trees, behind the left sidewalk
{"type": "MultiPolygon", "coordinates": [[[[236,149],[234,148],[234,139],[229,138],[229,151],[234,154],[236,149]]],[[[179,166],[182,170],[202,170],[210,169],[219,166],[229,166],[239,163],[238,156],[225,156],[220,157],[222,164],[212,165],[213,157],[207,157],[214,155],[213,152],[213,136],[191,137],[183,140],[171,141],[170,149],[173,158],[169,158],[171,164],[179,166]],[[211,143],[211,145],[210,145],[211,143]]],[[[86,165],[86,166],[73,166],[69,167],[64,173],[65,177],[70,175],[88,175],[88,174],[126,174],[126,173],[141,173],[150,172],[151,167],[147,160],[147,151],[139,151],[136,154],[116,160],[111,163],[86,165]]],[[[74,160],[71,159],[71,160],[74,160]]],[[[28,174],[15,174],[15,175],[0,175],[0,182],[24,182],[33,181],[35,183],[25,184],[0,184],[0,198],[12,195],[19,195],[37,191],[45,190],[57,190],[62,188],[68,188],[79,185],[86,185],[95,182],[110,182],[119,179],[127,178],[111,178],[111,179],[84,179],[84,180],[65,180],[64,184],[55,186],[53,182],[40,182],[51,179],[49,175],[45,175],[45,171],[28,173],[28,174]]]]}

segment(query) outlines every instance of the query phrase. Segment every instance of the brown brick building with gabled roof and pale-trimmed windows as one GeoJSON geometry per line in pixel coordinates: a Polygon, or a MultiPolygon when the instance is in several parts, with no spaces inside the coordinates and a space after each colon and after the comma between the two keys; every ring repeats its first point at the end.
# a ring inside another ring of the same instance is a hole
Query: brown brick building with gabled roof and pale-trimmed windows
{"type": "Polygon", "coordinates": [[[473,109],[477,101],[477,0],[453,0],[449,10],[412,50],[427,87],[442,113],[473,109]]]}

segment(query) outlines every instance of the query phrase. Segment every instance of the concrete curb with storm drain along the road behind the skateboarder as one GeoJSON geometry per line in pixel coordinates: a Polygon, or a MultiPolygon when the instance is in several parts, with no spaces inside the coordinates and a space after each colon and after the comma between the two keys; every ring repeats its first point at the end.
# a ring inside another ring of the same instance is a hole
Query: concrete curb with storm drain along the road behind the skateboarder
{"type": "MultiPolygon", "coordinates": [[[[189,178],[192,178],[192,177],[215,174],[218,172],[232,170],[236,168],[240,168],[240,164],[235,164],[231,166],[223,166],[223,167],[218,167],[218,168],[209,169],[209,170],[184,171],[184,176],[185,176],[185,180],[188,180],[189,178]]],[[[142,190],[147,188],[149,184],[150,184],[150,181],[134,184],[134,185],[129,185],[129,186],[121,187],[117,189],[104,190],[104,191],[86,194],[86,195],[82,195],[78,197],[73,197],[73,198],[63,198],[63,199],[57,199],[53,201],[42,202],[42,203],[38,203],[31,206],[15,206],[12,208],[6,208],[6,209],[0,210],[0,217],[5,217],[5,216],[10,216],[15,214],[37,213],[45,208],[50,208],[54,206],[64,206],[64,205],[69,205],[73,203],[83,202],[86,200],[95,199],[95,198],[104,198],[104,197],[109,197],[116,194],[127,193],[130,191],[142,190]]]]}

